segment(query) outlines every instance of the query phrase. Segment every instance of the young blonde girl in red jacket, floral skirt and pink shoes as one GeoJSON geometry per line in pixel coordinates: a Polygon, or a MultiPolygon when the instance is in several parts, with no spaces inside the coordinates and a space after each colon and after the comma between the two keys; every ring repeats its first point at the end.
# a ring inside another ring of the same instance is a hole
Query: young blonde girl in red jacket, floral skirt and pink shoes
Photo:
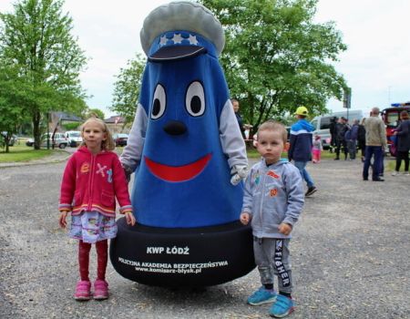
{"type": "Polygon", "coordinates": [[[114,141],[107,125],[98,118],[89,118],[81,131],[83,143],[68,160],[61,183],[58,210],[59,224],[67,227],[67,214],[71,211],[69,235],[77,239],[80,281],[77,283],[76,300],[91,298],[88,263],[91,244],[97,250],[97,280],[94,282],[94,299],[108,298],[106,269],[108,239],[117,235],[116,198],[120,213],[128,224],[135,218],[129,201],[128,183],[118,160],[114,141]]]}

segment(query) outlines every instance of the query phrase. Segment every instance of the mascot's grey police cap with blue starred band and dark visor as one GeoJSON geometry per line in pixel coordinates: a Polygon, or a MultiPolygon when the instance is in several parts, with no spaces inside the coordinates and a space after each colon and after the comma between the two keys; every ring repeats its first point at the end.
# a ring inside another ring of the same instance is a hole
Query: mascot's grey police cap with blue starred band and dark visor
{"type": "Polygon", "coordinates": [[[225,45],[220,21],[205,6],[189,1],[171,2],[151,11],[139,36],[145,54],[153,62],[206,52],[219,57],[225,45]]]}

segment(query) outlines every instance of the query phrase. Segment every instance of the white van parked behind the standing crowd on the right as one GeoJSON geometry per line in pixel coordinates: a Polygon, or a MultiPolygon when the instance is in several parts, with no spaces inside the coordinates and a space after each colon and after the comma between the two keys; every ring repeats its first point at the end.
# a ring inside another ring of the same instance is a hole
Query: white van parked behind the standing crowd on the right
{"type": "Polygon", "coordinates": [[[349,112],[333,112],[312,119],[313,135],[318,134],[321,137],[323,149],[329,149],[330,147],[331,134],[329,128],[332,119],[341,117],[347,118],[348,123],[352,125],[354,119],[362,120],[364,118],[364,111],[361,109],[349,109],[349,112]]]}

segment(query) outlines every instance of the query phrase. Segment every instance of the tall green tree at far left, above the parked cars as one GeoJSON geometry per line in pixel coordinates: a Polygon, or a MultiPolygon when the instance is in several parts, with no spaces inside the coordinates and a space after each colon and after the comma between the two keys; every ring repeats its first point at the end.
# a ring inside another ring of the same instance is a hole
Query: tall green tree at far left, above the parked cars
{"type": "Polygon", "coordinates": [[[78,79],[86,57],[70,34],[72,19],[62,14],[62,5],[61,0],[21,0],[13,14],[0,14],[0,56],[25,78],[22,107],[32,118],[35,149],[50,111],[80,113],[86,108],[78,79]]]}

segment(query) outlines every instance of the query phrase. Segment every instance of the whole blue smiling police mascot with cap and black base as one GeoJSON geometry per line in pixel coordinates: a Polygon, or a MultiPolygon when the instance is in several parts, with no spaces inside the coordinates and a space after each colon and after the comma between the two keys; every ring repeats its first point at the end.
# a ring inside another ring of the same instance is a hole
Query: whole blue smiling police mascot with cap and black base
{"type": "Polygon", "coordinates": [[[144,21],[148,56],[121,163],[135,172],[138,224],[118,220],[110,258],[124,277],[161,286],[229,282],[254,268],[241,213],[247,157],[218,57],[220,22],[202,5],[161,5],[144,21]]]}

